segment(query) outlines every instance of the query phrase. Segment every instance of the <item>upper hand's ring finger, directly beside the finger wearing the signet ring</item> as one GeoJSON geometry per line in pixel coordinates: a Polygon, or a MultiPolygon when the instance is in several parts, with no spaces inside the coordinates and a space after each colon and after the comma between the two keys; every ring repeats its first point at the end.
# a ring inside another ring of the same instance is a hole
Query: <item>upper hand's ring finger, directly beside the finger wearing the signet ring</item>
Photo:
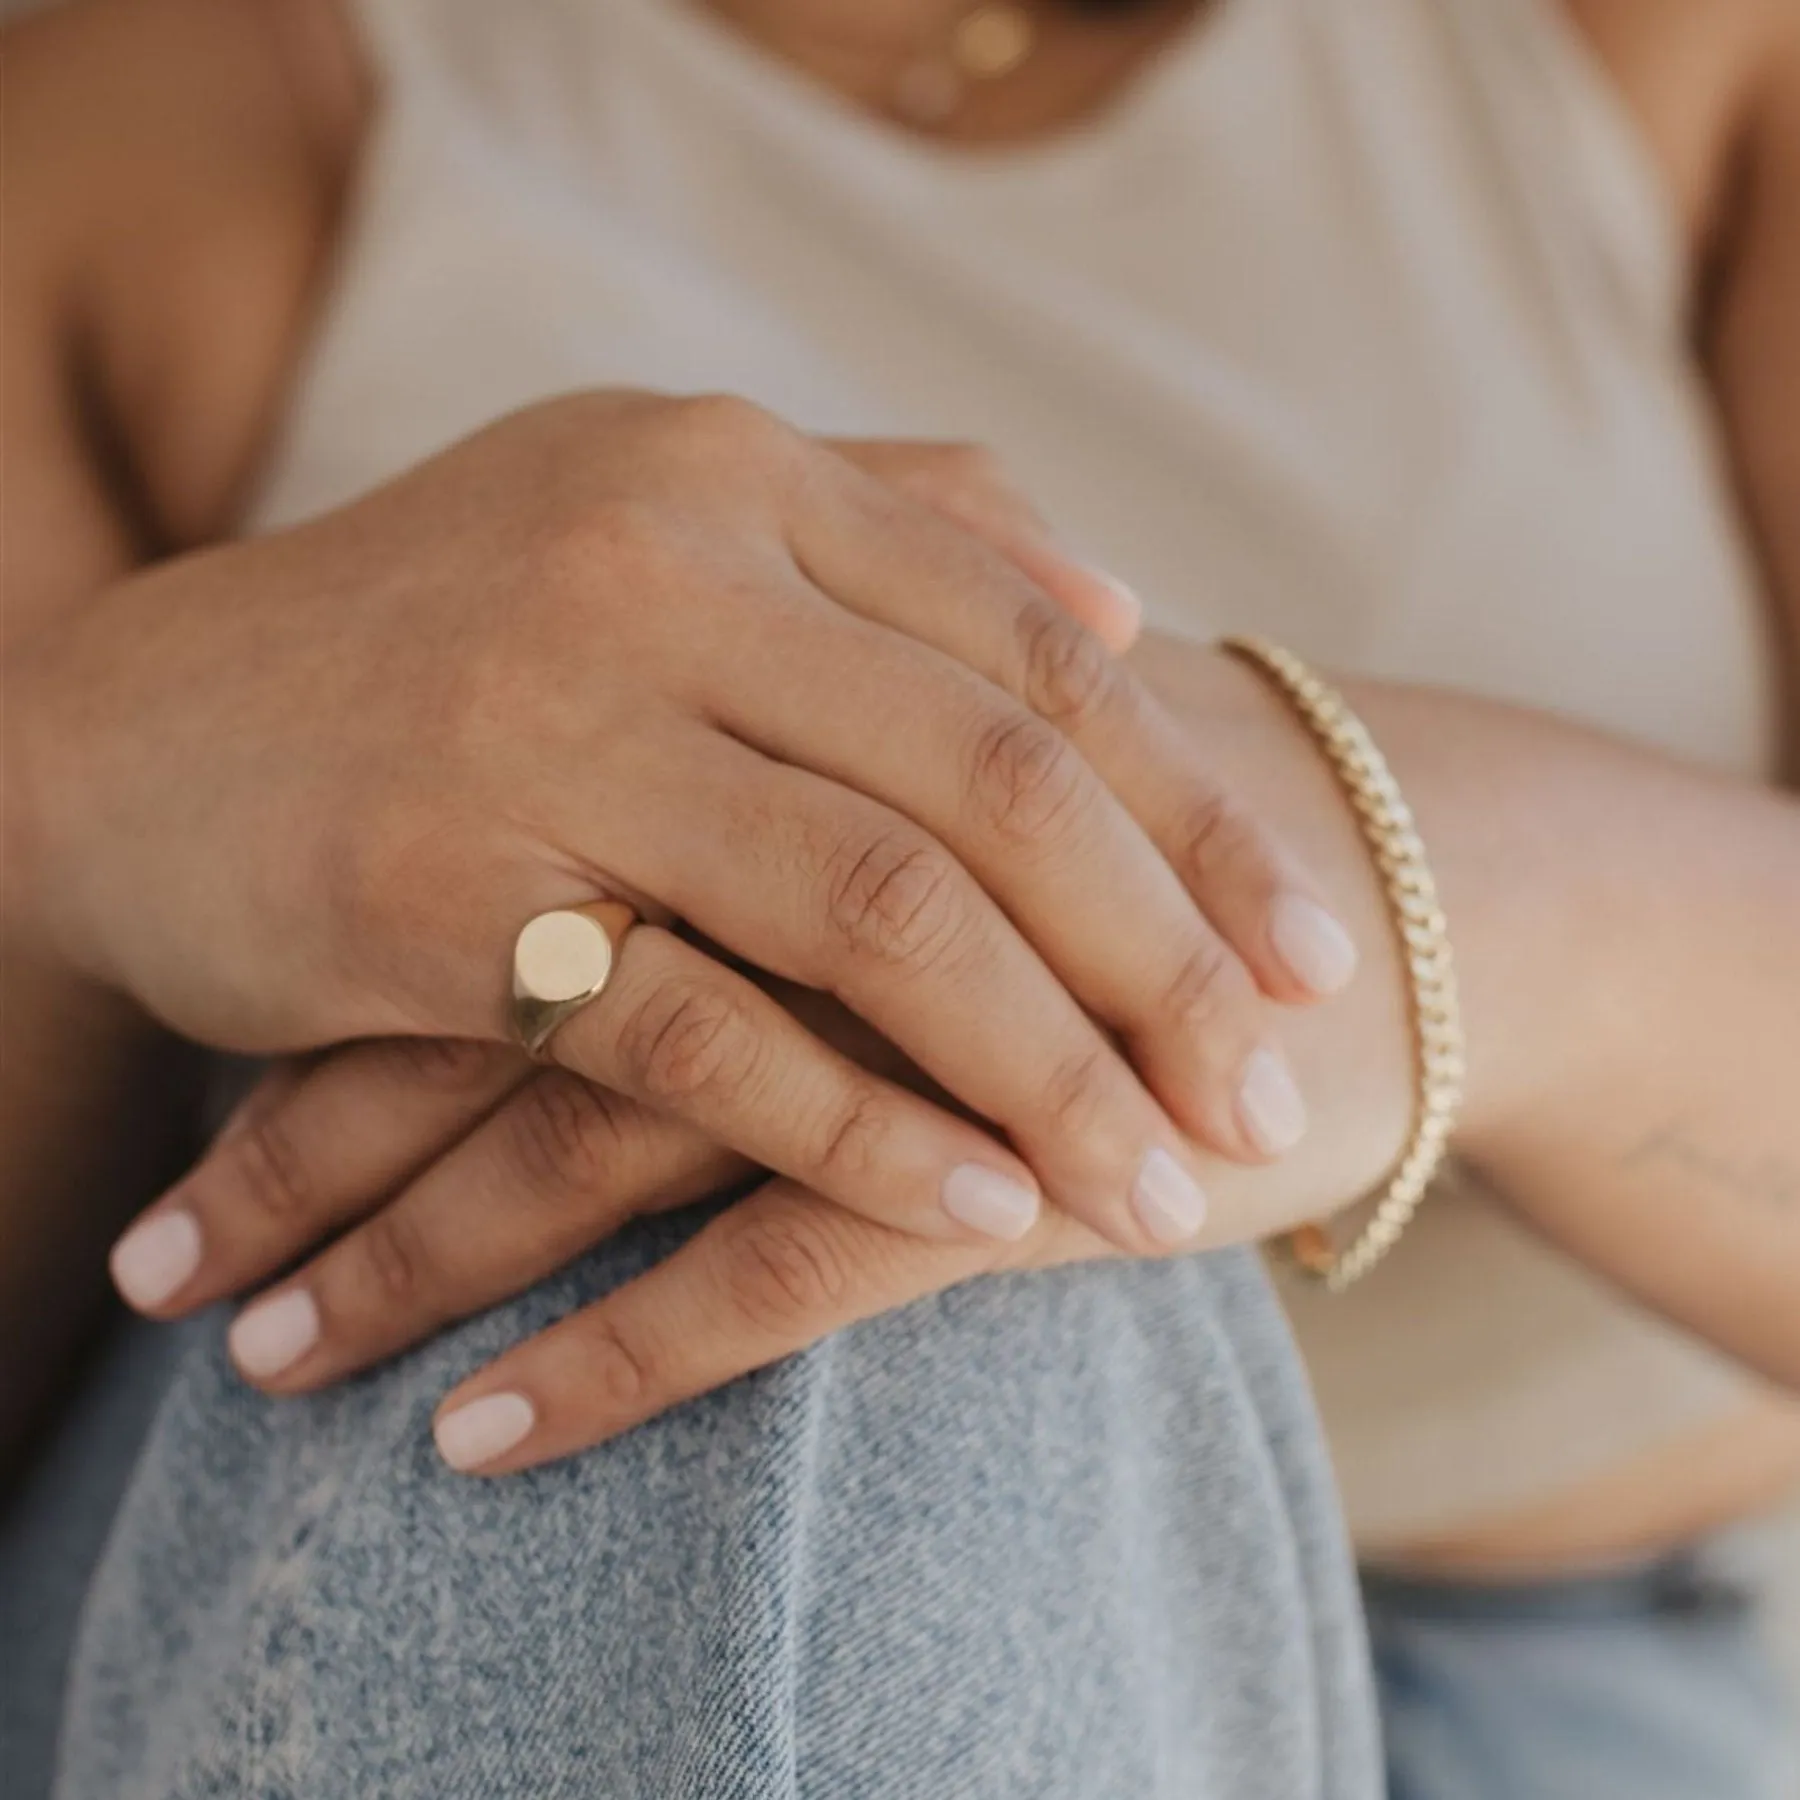
{"type": "MultiPolygon", "coordinates": [[[[1193,1240],[1204,1195],[1183,1132],[940,842],[862,794],[747,747],[716,760],[702,752],[680,778],[684,806],[662,812],[664,830],[637,846],[646,862],[632,875],[648,893],[747,961],[837,995],[999,1125],[1049,1197],[1118,1247],[1147,1255],[1193,1240]]],[[[632,932],[626,949],[643,938],[632,932]]],[[[571,1030],[562,1042],[572,1040],[571,1030]]],[[[666,1078],[576,1066],[695,1116],[680,1082],[671,1093],[666,1078]]],[[[770,1073],[758,1067],[745,1085],[770,1073]]],[[[787,1159],[754,1148],[752,1112],[707,1129],[830,1199],[905,1219],[904,1208],[860,1204],[842,1166],[824,1175],[815,1159],[796,1166],[792,1147],[787,1159]]],[[[853,1141],[860,1166],[850,1174],[866,1181],[868,1134],[853,1141]]]]}

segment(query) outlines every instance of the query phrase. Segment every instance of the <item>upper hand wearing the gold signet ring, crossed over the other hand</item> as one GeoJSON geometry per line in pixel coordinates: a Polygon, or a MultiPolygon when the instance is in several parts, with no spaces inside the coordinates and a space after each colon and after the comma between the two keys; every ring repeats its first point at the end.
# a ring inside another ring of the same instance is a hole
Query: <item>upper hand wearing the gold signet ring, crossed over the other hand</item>
{"type": "Polygon", "coordinates": [[[1022,1231],[1035,1172],[1141,1253],[1188,1138],[1280,1148],[1244,1075],[1305,878],[1015,562],[740,401],[517,414],[115,590],[29,693],[34,916],[202,1040],[502,1039],[518,927],[617,896],[1010,1139],[632,932],[556,1060],[877,1220],[1022,1231]]]}

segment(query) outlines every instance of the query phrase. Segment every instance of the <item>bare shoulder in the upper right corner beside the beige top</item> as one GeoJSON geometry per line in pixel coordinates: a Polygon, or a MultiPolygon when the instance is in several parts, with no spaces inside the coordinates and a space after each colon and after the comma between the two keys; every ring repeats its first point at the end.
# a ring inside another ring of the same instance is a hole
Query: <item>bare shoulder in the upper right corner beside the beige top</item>
{"type": "Polygon", "coordinates": [[[1726,229],[1769,72],[1800,50],[1800,0],[1562,0],[1663,167],[1696,261],[1726,229]]]}

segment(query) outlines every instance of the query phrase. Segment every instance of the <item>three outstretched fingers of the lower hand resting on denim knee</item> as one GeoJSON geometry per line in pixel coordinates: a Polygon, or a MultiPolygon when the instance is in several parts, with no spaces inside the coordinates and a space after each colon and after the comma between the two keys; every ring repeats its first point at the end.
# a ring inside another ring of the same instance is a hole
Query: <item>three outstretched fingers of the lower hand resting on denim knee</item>
{"type": "MultiPolygon", "coordinates": [[[[817,1012],[808,1024],[859,1058],[886,1051],[868,1033],[850,1042],[857,1021],[833,1003],[817,1012]]],[[[522,1292],[634,1215],[756,1179],[695,1127],[520,1053],[353,1044],[265,1076],[169,1197],[207,1246],[175,1310],[243,1292],[344,1231],[230,1334],[248,1381],[304,1393],[522,1292]]],[[[1019,1242],[947,1244],[765,1181],[664,1264],[466,1381],[439,1408],[437,1442],[455,1467],[508,1474],[970,1276],[1112,1255],[1055,1208],[1019,1242]],[[486,1438],[454,1422],[502,1393],[518,1399],[468,1415],[486,1438]],[[495,1451],[499,1424],[520,1436],[495,1451]]]]}

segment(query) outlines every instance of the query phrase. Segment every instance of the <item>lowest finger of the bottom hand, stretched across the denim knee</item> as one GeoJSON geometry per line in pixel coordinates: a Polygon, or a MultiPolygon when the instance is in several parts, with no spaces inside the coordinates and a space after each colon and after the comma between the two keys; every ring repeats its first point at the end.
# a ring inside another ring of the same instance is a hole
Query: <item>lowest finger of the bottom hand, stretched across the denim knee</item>
{"type": "Polygon", "coordinates": [[[472,1375],[432,1435],[452,1469],[513,1474],[1019,1255],[929,1242],[772,1181],[648,1274],[472,1375]]]}

